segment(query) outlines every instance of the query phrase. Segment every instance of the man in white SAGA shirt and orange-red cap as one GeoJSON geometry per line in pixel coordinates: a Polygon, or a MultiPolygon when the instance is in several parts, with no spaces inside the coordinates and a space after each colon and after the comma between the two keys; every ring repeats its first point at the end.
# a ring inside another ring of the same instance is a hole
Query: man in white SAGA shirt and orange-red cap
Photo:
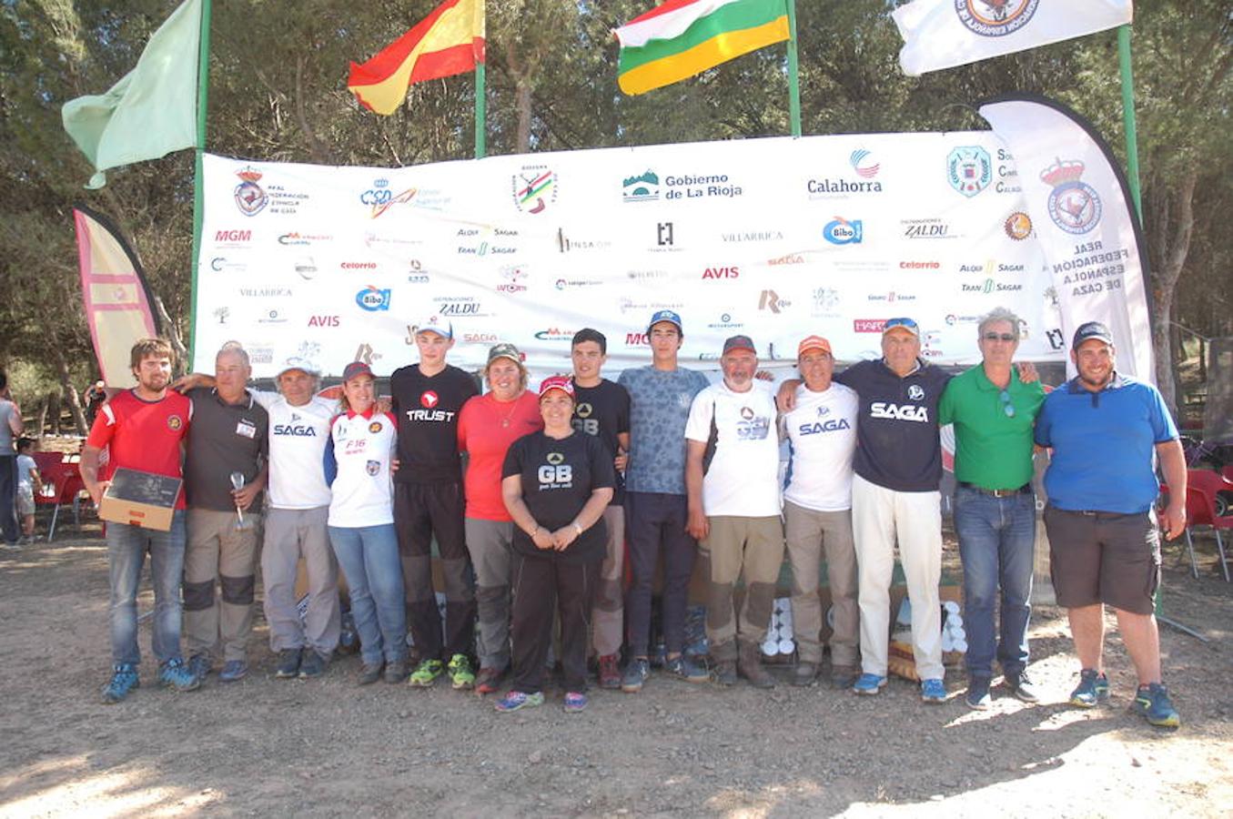
{"type": "Polygon", "coordinates": [[[790,459],[784,479],[783,517],[792,562],[792,622],[799,662],[793,682],[813,685],[822,661],[820,562],[835,614],[831,683],[851,688],[859,667],[861,612],[857,607],[856,546],[852,539],[852,455],[856,451],[856,392],[831,381],[831,343],[810,335],[797,349],[804,384],[797,407],[780,418],[790,459]]]}

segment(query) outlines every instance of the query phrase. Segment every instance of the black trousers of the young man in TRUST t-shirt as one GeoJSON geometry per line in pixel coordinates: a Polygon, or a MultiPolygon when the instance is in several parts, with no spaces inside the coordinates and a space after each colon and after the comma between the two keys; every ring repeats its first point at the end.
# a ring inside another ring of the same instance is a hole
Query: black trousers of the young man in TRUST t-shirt
{"type": "Polygon", "coordinates": [[[395,484],[393,523],[398,533],[407,629],[420,660],[472,654],[475,577],[462,529],[461,484],[395,484]],[[445,634],[433,588],[433,534],[445,576],[445,634]]]}

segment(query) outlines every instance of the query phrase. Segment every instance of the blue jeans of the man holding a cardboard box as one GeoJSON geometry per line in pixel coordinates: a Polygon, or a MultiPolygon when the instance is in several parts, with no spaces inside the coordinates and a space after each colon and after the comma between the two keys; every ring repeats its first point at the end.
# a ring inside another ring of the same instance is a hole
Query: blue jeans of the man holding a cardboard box
{"type": "Polygon", "coordinates": [[[171,529],[159,532],[127,523],[107,524],[107,575],[111,582],[111,659],[137,665],[137,587],[145,551],[150,553],[154,587],[154,634],[150,639],[159,664],[180,659],[180,580],[184,575],[184,509],[171,516],[171,529]]]}

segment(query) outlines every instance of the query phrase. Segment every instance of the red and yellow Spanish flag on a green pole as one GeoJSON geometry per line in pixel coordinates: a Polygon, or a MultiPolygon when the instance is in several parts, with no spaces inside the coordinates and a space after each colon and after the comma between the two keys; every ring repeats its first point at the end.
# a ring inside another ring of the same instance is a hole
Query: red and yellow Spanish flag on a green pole
{"type": "Polygon", "coordinates": [[[471,72],[478,63],[483,63],[483,0],[445,0],[372,59],[351,63],[346,88],[364,107],[388,116],[412,83],[471,72]]]}

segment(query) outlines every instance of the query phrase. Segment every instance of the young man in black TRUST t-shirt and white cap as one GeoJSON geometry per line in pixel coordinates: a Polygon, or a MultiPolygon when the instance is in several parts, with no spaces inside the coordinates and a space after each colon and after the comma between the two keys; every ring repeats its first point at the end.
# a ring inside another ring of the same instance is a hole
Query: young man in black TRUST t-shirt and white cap
{"type": "MultiPolygon", "coordinates": [[[[398,532],[407,627],[419,664],[411,685],[429,687],[449,671],[454,688],[475,685],[471,641],[475,634],[475,588],[462,527],[462,466],[457,417],[462,405],[480,393],[475,379],[445,363],[454,347],[454,328],[432,316],[414,328],[419,363],[390,376],[393,414],[398,418],[398,471],[395,472],[393,519],[398,532]],[[445,627],[433,588],[432,543],[436,535],[445,577],[445,627]]],[[[396,669],[391,677],[407,676],[396,669]]]]}

